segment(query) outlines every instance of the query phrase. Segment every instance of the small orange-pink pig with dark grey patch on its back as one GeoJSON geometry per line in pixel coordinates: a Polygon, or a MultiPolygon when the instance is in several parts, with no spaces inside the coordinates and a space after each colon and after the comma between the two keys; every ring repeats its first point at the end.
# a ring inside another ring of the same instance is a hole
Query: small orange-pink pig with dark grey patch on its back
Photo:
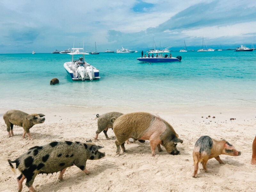
{"type": "Polygon", "coordinates": [[[230,155],[230,156],[239,156],[241,155],[240,151],[237,151],[233,145],[228,143],[226,140],[214,140],[209,136],[200,137],[195,144],[193,150],[193,159],[195,171],[193,177],[197,177],[198,163],[203,164],[203,169],[205,172],[208,172],[206,168],[207,161],[211,158],[215,158],[220,164],[224,164],[221,161],[219,155],[230,155]]]}

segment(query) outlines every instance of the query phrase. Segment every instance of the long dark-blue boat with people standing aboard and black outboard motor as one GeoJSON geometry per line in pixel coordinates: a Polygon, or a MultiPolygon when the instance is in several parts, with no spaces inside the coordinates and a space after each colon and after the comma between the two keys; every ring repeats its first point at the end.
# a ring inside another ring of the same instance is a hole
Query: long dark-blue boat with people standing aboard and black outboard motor
{"type": "MultiPolygon", "coordinates": [[[[153,53],[152,53],[153,54],[153,53]]],[[[162,54],[160,55],[156,55],[152,57],[152,55],[150,57],[139,57],[137,58],[137,60],[143,62],[143,63],[166,63],[166,62],[179,62],[181,61],[181,56],[177,56],[177,57],[168,57],[167,54],[165,54],[165,56],[163,57],[162,54]]]]}

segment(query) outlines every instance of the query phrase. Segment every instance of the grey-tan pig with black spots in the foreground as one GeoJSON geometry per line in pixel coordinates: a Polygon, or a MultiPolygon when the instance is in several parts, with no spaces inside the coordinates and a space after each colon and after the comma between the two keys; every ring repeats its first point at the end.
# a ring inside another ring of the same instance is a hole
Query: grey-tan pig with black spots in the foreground
{"type": "Polygon", "coordinates": [[[15,169],[12,163],[16,163],[16,169],[21,172],[18,180],[18,191],[22,190],[22,182],[27,178],[26,186],[30,192],[34,192],[33,182],[39,173],[54,173],[60,171],[59,180],[63,180],[63,174],[67,167],[76,165],[87,175],[87,159],[95,160],[105,156],[98,149],[102,148],[94,143],[80,143],[78,141],[54,141],[44,146],[35,146],[23,153],[14,161],[8,160],[12,171],[15,169]]]}

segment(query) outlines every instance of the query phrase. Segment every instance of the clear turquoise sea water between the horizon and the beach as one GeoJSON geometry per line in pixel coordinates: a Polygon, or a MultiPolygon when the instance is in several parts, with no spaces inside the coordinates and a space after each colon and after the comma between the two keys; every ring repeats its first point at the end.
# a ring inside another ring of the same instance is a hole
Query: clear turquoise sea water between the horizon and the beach
{"type": "Polygon", "coordinates": [[[140,63],[141,53],[100,53],[85,60],[100,79],[73,81],[68,54],[0,54],[2,109],[127,107],[172,110],[255,107],[256,51],[172,52],[181,62],[140,63]],[[52,78],[60,84],[50,85],[52,78]]]}

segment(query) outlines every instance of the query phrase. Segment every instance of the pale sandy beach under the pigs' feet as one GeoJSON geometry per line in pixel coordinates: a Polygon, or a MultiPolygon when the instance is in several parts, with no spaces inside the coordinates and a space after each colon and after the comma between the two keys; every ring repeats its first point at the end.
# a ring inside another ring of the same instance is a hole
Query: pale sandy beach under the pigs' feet
{"type": "MultiPolygon", "coordinates": [[[[151,156],[148,141],[125,144],[127,153],[121,151],[116,155],[115,135],[110,129],[106,140],[103,132],[98,140],[94,140],[97,130],[96,114],[111,111],[122,113],[137,112],[129,108],[56,108],[20,109],[26,113],[43,113],[45,122],[30,129],[33,140],[21,139],[23,128],[14,126],[14,137],[7,138],[6,125],[3,120],[5,110],[0,110],[0,191],[17,191],[16,178],[7,159],[14,160],[28,148],[40,146],[52,141],[69,140],[92,141],[104,148],[106,156],[100,160],[88,160],[86,168],[90,175],[84,174],[78,167],[67,169],[63,179],[58,180],[58,173],[40,174],[36,176],[34,188],[40,192],[71,192],[71,191],[244,191],[256,190],[256,166],[250,164],[252,141],[255,137],[256,114],[253,108],[237,108],[230,110],[211,110],[207,108],[193,110],[173,110],[171,112],[145,111],[158,115],[179,134],[183,143],[178,143],[180,155],[156,151],[151,156]],[[185,112],[184,112],[185,111],[185,112]],[[192,111],[192,112],[190,112],[192,111]],[[211,117],[208,117],[211,116],[211,117]],[[212,118],[215,116],[215,118],[212,118]],[[234,120],[230,120],[234,118],[234,120]],[[198,178],[192,177],[194,170],[192,151],[196,140],[208,135],[216,140],[225,139],[233,144],[241,156],[221,155],[225,164],[219,164],[214,158],[208,161],[209,172],[204,172],[199,164],[198,178]]],[[[143,110],[140,110],[143,111],[143,110]]],[[[28,191],[23,182],[23,190],[28,191]]]]}

